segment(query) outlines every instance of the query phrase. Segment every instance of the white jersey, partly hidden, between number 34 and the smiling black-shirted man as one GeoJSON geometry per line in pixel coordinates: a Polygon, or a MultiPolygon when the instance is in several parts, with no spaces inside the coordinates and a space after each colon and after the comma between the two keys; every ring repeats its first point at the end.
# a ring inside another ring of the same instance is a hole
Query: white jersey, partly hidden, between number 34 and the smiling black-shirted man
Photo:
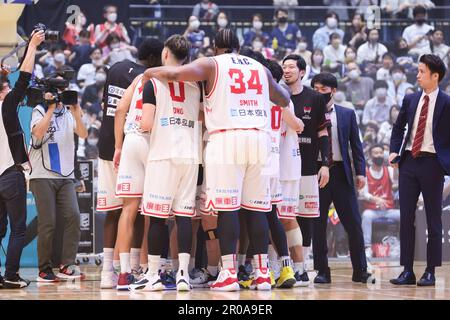
{"type": "MultiPolygon", "coordinates": [[[[289,109],[294,112],[294,104],[289,102],[289,109]]],[[[302,175],[302,159],[298,144],[297,132],[281,121],[280,138],[280,180],[300,180],[302,175]]]]}

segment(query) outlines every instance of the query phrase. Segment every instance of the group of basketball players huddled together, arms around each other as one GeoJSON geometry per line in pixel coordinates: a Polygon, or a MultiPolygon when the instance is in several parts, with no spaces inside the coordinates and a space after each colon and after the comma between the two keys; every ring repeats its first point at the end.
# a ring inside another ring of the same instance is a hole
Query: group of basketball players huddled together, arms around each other
{"type": "Polygon", "coordinates": [[[310,284],[305,252],[329,179],[330,94],[301,85],[298,55],[280,66],[239,51],[229,29],[214,49],[186,63],[189,42],[174,35],[162,66],[155,57],[148,69],[121,62],[109,71],[99,150],[114,151],[100,154],[97,192],[97,211],[107,213],[102,289],[310,284]],[[112,83],[127,76],[127,85],[112,83]],[[194,269],[199,228],[207,267],[194,269]]]}

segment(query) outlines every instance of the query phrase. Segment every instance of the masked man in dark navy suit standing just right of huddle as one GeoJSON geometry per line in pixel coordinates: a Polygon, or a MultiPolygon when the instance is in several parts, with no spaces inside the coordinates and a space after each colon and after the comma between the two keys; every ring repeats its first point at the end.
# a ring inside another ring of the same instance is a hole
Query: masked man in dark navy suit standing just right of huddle
{"type": "Polygon", "coordinates": [[[332,124],[328,132],[328,136],[331,137],[330,181],[324,188],[320,189],[320,217],[314,219],[314,269],[318,271],[314,283],[331,282],[327,258],[326,230],[328,210],[332,202],[344,229],[348,233],[353,266],[352,281],[374,283],[375,279],[367,272],[361,215],[359,214],[349,155],[350,145],[356,173],[356,187],[362,189],[366,181],[366,163],[359,138],[356,115],[353,110],[334,104],[332,95],[336,92],[337,80],[332,74],[321,73],[316,75],[311,81],[311,86],[314,90],[322,93],[328,101],[328,116],[332,124]]]}

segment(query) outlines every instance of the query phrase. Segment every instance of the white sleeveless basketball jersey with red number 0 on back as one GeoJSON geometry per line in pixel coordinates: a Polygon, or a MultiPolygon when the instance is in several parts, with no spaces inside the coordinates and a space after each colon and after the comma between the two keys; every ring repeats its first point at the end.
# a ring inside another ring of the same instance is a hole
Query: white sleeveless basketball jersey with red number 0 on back
{"type": "Polygon", "coordinates": [[[190,159],[201,163],[201,91],[195,82],[151,79],[156,97],[149,160],[190,159]]]}

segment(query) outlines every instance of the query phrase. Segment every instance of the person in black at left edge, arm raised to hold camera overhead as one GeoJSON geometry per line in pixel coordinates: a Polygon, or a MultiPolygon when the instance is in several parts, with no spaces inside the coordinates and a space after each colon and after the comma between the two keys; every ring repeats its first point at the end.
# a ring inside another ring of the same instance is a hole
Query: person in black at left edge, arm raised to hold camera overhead
{"type": "Polygon", "coordinates": [[[20,75],[13,89],[9,88],[7,73],[0,76],[0,230],[6,230],[8,215],[11,233],[6,255],[3,288],[27,287],[30,282],[19,276],[20,257],[26,231],[26,183],[22,165],[28,162],[17,108],[26,94],[33,71],[36,48],[44,41],[44,32],[34,32],[27,54],[20,67],[20,75]]]}

